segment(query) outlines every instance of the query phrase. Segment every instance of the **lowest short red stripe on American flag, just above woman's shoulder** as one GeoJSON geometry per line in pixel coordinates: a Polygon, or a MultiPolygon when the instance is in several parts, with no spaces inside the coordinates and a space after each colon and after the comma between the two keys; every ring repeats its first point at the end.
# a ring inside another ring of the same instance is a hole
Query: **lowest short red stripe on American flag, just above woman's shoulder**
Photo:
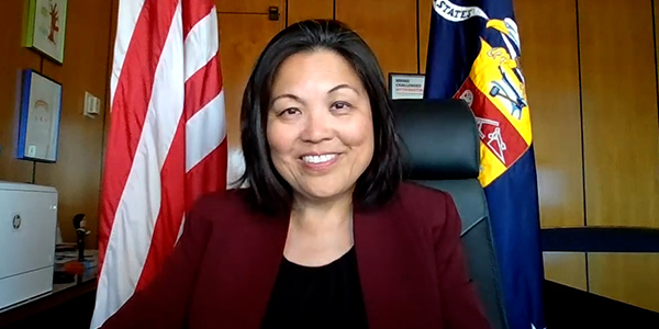
{"type": "Polygon", "coordinates": [[[226,138],[186,174],[187,208],[202,194],[224,191],[227,170],[226,138]]]}

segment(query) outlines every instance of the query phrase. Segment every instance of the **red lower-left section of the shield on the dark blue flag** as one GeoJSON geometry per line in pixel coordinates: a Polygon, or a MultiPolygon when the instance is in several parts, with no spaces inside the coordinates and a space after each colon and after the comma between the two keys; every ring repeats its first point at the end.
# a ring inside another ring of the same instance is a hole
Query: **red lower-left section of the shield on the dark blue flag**
{"type": "Polygon", "coordinates": [[[467,78],[456,98],[462,95],[466,90],[473,94],[471,110],[477,117],[481,141],[506,168],[510,167],[526,151],[526,141],[496,105],[476,87],[471,78],[467,78]]]}

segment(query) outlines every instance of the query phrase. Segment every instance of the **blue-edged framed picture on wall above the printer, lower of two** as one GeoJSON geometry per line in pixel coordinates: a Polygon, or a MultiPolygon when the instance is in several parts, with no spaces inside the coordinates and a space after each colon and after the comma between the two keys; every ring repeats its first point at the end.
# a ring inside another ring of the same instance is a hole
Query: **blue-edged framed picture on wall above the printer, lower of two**
{"type": "Polygon", "coordinates": [[[60,116],[62,84],[24,70],[16,158],[56,162],[60,116]]]}

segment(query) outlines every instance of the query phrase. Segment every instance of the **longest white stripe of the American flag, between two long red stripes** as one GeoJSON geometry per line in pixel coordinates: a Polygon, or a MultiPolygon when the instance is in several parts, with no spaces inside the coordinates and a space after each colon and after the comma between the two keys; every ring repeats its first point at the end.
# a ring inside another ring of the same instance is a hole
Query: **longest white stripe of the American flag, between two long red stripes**
{"type": "Polygon", "coordinates": [[[97,296],[107,303],[97,303],[92,328],[112,316],[134,293],[150,248],[160,211],[160,169],[183,109],[181,39],[179,2],[156,68],[153,95],[131,173],[110,231],[97,296]]]}

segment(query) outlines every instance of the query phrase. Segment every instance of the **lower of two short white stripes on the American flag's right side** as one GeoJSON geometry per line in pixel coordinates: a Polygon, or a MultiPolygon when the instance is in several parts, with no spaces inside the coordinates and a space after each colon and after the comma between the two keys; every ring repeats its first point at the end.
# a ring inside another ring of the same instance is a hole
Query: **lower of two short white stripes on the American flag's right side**
{"type": "Polygon", "coordinates": [[[186,172],[213,151],[226,136],[224,89],[186,124],[186,172]]]}

